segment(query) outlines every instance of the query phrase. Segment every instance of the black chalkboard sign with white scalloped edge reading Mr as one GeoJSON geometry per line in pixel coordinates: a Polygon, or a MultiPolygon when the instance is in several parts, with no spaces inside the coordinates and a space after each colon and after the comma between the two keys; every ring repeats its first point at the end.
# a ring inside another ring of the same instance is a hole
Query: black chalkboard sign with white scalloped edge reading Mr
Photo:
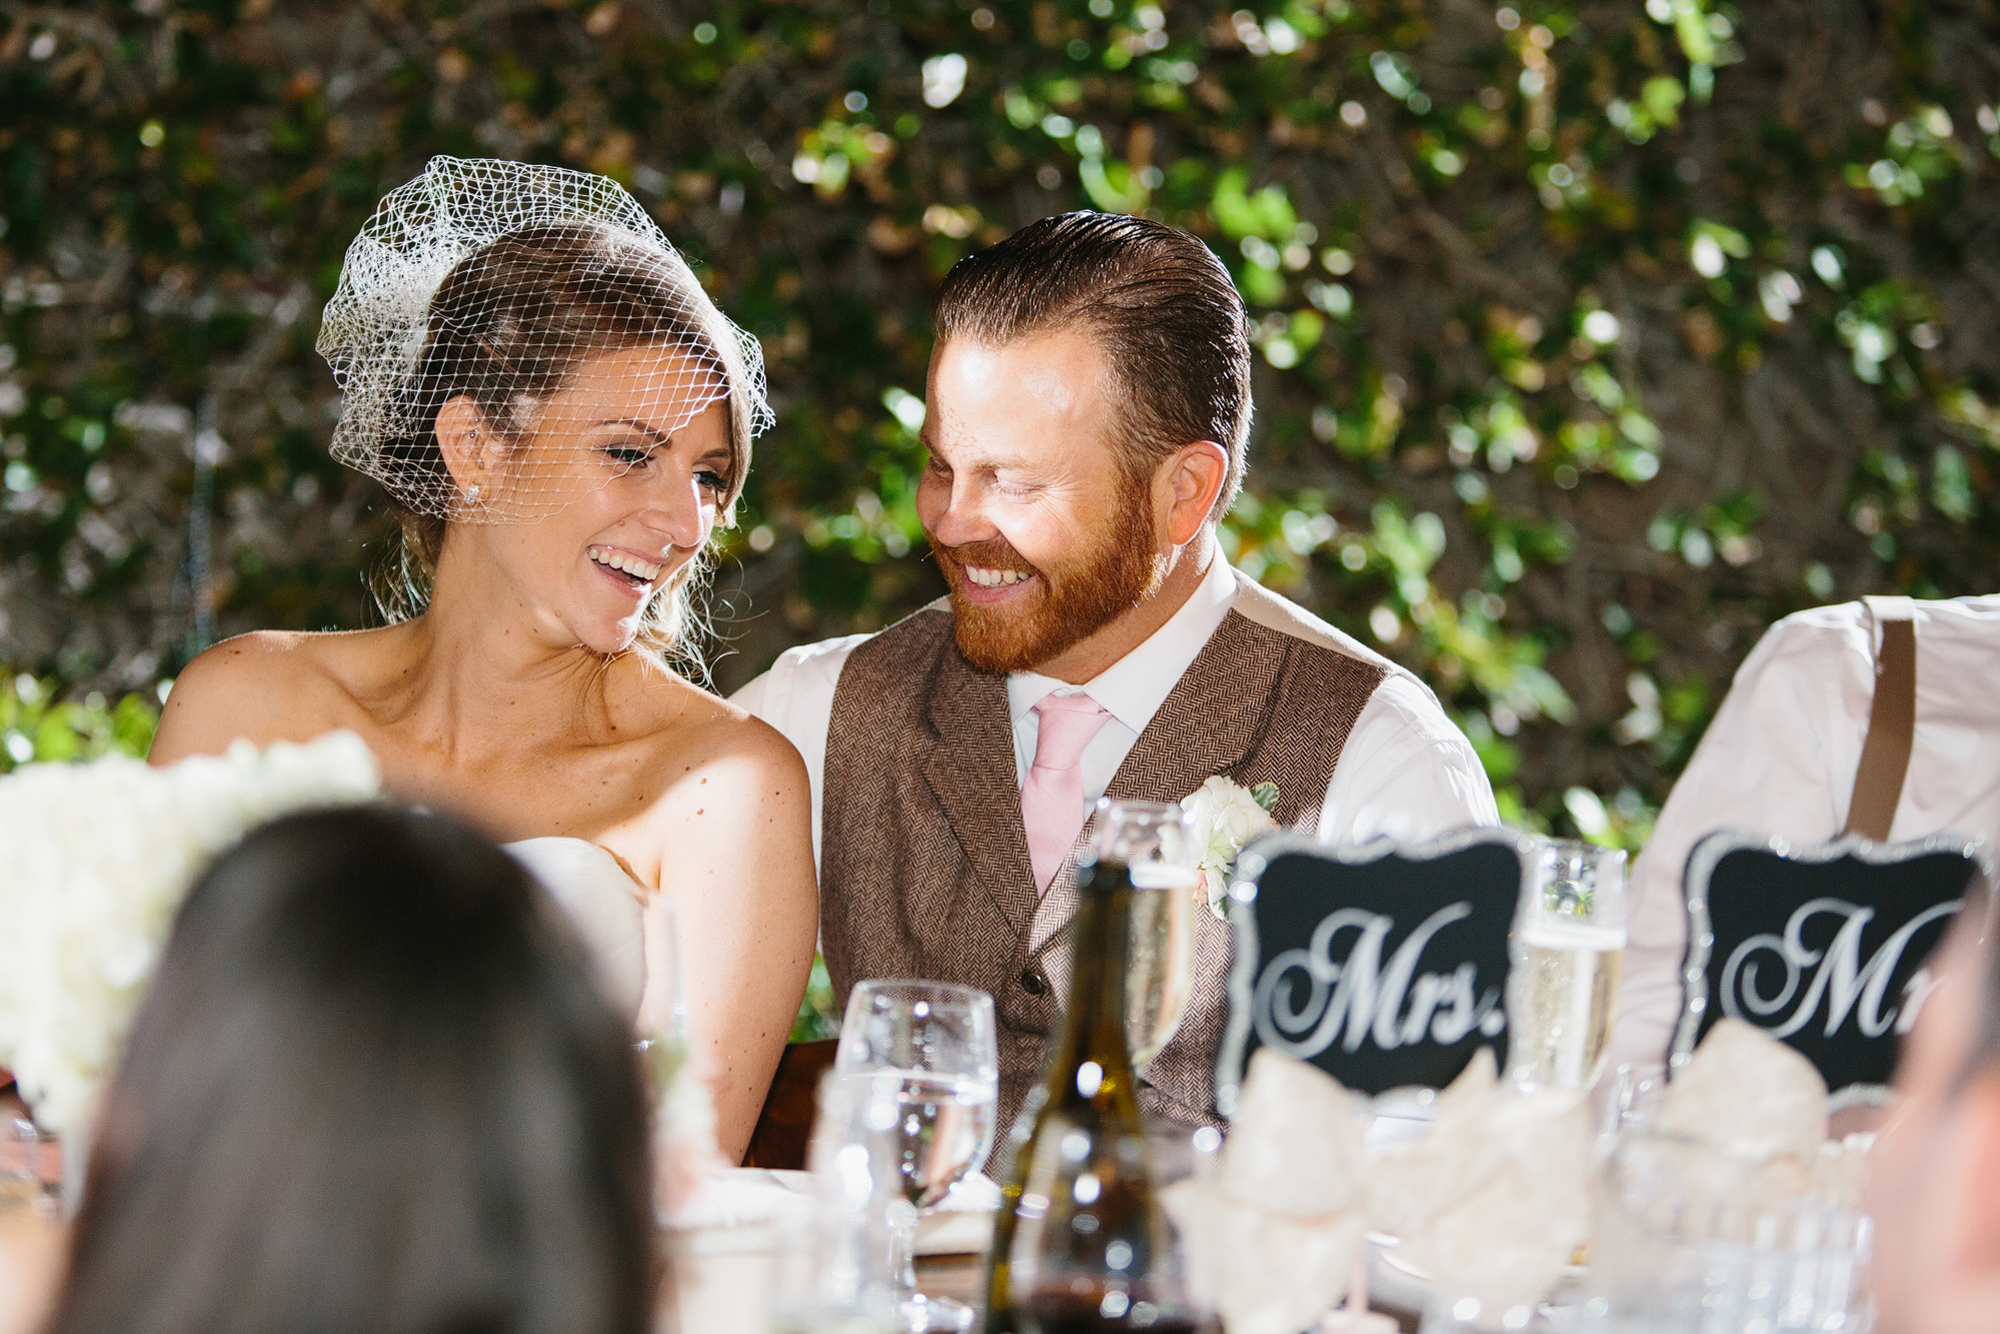
{"type": "Polygon", "coordinates": [[[1830,1090],[1886,1084],[1930,992],[1926,962],[1980,872],[1944,834],[1794,846],[1718,830],[1688,854],[1686,1006],[1670,1070],[1722,1018],[1806,1056],[1830,1090]]]}

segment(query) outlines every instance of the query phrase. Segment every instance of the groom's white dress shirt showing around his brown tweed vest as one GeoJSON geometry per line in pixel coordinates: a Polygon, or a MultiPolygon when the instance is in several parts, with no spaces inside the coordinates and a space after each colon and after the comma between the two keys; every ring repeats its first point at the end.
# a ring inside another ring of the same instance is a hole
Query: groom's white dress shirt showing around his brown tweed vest
{"type": "MultiPolygon", "coordinates": [[[[1104,796],[1118,766],[1138,744],[1140,732],[1194,664],[1248,578],[1220,556],[1194,594],[1144,644],[1082,686],[1036,672],[1008,676],[1008,712],[1014,722],[1016,780],[1028,778],[1040,718],[1034,706],[1046,694],[1088,694],[1112,716],[1084,748],[1084,796],[1104,796]]],[[[936,606],[948,606],[938,602],[936,606]]],[[[1298,636],[1296,622],[1274,630],[1298,636]]],[[[1492,784],[1438,698],[1408,670],[1362,646],[1326,622],[1310,620],[1316,642],[1388,668],[1388,676],[1362,706],[1348,744],[1334,764],[1320,806],[1318,834],[1336,844],[1358,844],[1380,834],[1402,840],[1430,838],[1468,824],[1498,824],[1492,784]]],[[[812,846],[820,846],[820,780],[826,770],[826,728],[834,690],[848,654],[866,634],[786,650],[776,664],[732,700],[772,724],[798,746],[812,776],[812,846]]]]}

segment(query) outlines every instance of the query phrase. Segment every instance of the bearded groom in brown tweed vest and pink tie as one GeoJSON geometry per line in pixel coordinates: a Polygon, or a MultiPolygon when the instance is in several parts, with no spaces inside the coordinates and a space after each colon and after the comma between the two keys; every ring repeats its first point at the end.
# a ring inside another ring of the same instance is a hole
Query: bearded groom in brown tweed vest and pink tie
{"type": "MultiPolygon", "coordinates": [[[[996,1142],[1062,1022],[1096,798],[1222,774],[1336,842],[1496,822],[1430,690],[1222,558],[1248,432],[1244,306],[1202,242],[1088,212],[1016,232],[938,298],[918,514],[950,598],[736,694],[812,772],[836,998],[884,976],[992,992],[996,1142]]],[[[1198,920],[1194,998],[1142,1092],[1212,1124],[1232,942],[1198,920]]]]}

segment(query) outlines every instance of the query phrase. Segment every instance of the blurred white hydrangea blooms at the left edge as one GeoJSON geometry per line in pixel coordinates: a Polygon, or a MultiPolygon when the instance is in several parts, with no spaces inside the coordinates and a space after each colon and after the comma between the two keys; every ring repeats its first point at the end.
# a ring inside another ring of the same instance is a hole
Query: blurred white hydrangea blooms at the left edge
{"type": "Polygon", "coordinates": [[[130,756],[0,778],[0,1066],[36,1120],[84,1134],[182,896],[250,828],[380,794],[352,732],[248,742],[148,768],[130,756]]]}

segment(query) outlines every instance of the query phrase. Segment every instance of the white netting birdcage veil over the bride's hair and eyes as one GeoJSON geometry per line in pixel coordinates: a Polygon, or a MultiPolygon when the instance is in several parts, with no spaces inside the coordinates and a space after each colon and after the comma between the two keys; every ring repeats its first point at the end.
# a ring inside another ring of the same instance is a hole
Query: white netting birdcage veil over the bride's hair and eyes
{"type": "Polygon", "coordinates": [[[348,246],[318,350],[334,458],[428,520],[642,506],[670,454],[726,514],[772,420],[756,338],[618,182],[554,166],[432,158],[348,246]]]}

